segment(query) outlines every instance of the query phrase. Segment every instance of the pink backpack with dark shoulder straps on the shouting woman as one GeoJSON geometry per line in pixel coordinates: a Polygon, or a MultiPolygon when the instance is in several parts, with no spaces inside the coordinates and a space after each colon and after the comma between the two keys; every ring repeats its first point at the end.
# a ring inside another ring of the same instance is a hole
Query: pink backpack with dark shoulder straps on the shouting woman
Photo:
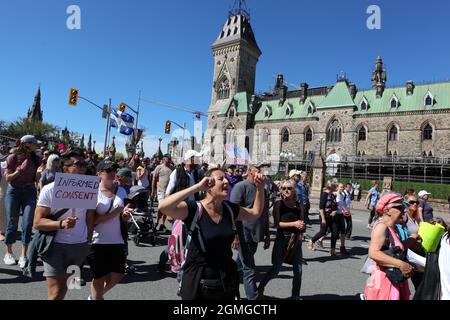
{"type": "MultiPolygon", "coordinates": [[[[228,203],[224,202],[227,211],[231,215],[231,221],[233,221],[233,230],[235,230],[234,225],[234,217],[233,211],[228,205],[228,203]]],[[[167,251],[169,254],[169,264],[170,269],[174,273],[178,273],[183,268],[183,264],[186,261],[186,257],[188,255],[189,244],[192,239],[192,234],[195,229],[199,229],[198,222],[202,218],[203,215],[203,206],[200,202],[197,202],[197,212],[195,213],[194,219],[191,224],[190,230],[186,233],[186,225],[182,220],[176,220],[172,227],[172,233],[167,242],[167,251]]],[[[205,245],[203,238],[199,236],[199,242],[201,251],[205,252],[205,245]]]]}

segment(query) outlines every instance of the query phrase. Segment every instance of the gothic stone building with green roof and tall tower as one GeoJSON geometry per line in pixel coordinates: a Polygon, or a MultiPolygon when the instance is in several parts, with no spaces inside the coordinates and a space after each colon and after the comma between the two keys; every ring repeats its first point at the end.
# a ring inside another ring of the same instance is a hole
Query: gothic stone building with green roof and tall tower
{"type": "Polygon", "coordinates": [[[278,75],[273,92],[255,95],[261,50],[249,16],[241,11],[230,14],[212,50],[214,80],[203,145],[210,163],[223,161],[224,144],[246,147],[253,162],[272,163],[283,150],[301,160],[321,147],[325,157],[332,152],[343,158],[450,155],[449,82],[387,87],[378,57],[369,90],[339,77],[334,85],[302,83],[289,91],[278,75]]]}

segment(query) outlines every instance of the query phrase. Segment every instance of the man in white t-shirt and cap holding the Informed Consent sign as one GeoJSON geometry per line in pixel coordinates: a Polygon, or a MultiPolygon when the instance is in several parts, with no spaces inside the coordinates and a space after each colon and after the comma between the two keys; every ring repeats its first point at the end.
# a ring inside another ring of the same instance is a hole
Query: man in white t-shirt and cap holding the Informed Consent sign
{"type": "MultiPolygon", "coordinates": [[[[87,163],[81,150],[63,155],[65,173],[84,174],[87,163]]],[[[34,228],[39,231],[56,231],[49,252],[42,257],[44,277],[47,278],[48,299],[63,300],[67,293],[69,266],[81,266],[90,251],[95,211],[69,209],[56,221],[50,217],[64,208],[52,209],[54,183],[44,186],[36,207],[34,228]]]]}

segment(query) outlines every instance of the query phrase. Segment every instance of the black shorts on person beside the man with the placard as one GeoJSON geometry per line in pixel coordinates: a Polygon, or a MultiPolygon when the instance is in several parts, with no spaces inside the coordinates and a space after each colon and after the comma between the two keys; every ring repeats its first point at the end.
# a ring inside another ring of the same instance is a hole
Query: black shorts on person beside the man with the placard
{"type": "Polygon", "coordinates": [[[94,244],[88,257],[94,279],[112,272],[125,274],[125,250],[123,244],[94,244]]]}

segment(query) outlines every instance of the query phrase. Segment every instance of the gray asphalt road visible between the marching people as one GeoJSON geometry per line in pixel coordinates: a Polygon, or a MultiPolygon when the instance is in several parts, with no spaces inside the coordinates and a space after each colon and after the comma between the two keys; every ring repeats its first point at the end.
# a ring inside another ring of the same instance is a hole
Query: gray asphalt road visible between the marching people
{"type": "MultiPolygon", "coordinates": [[[[318,208],[312,207],[312,225],[307,228],[307,235],[313,236],[318,231],[318,208]]],[[[329,238],[324,241],[325,249],[309,251],[306,242],[303,243],[303,283],[301,289],[302,297],[306,299],[359,299],[359,293],[364,290],[367,275],[359,272],[367,256],[370,232],[366,229],[367,212],[353,212],[353,240],[347,241],[349,257],[329,256],[329,238]]],[[[20,226],[20,224],[19,224],[20,226]]],[[[272,232],[275,237],[275,230],[272,232]]],[[[177,300],[177,281],[175,274],[165,273],[161,275],[157,271],[159,255],[164,249],[167,235],[161,236],[155,247],[142,243],[136,247],[130,241],[130,261],[136,266],[136,273],[126,275],[122,282],[109,292],[105,299],[108,300],[177,300]]],[[[270,268],[271,252],[264,250],[262,244],[256,254],[256,265],[258,271],[266,272],[270,268]]],[[[339,241],[337,243],[339,248],[339,241]]],[[[40,300],[46,299],[47,289],[45,278],[42,277],[42,264],[39,261],[37,277],[28,280],[21,276],[19,267],[6,266],[3,264],[5,246],[0,245],[0,300],[40,300]]],[[[20,253],[20,244],[14,246],[16,258],[20,253]]],[[[81,289],[69,290],[66,299],[86,300],[90,290],[89,267],[84,267],[83,276],[88,281],[81,289]]],[[[278,278],[273,279],[267,286],[265,294],[274,299],[287,298],[291,294],[292,268],[284,265],[278,278]]],[[[260,276],[258,277],[260,279],[260,276]]],[[[411,286],[412,287],[412,286],[411,286]]],[[[241,296],[245,297],[241,285],[241,296]]]]}

